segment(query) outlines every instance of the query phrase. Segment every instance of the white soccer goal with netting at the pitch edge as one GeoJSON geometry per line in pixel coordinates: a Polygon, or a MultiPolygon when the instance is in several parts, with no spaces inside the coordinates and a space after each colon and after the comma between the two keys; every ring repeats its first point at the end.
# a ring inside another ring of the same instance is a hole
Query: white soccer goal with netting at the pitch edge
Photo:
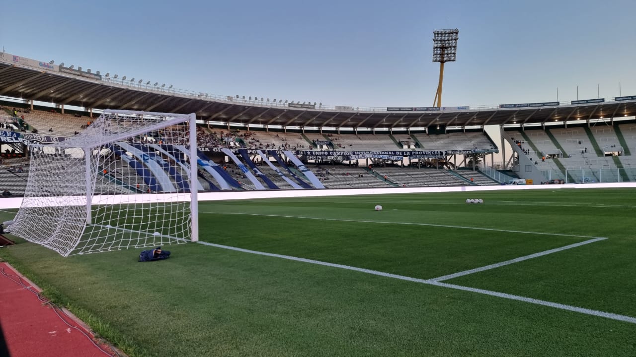
{"type": "Polygon", "coordinates": [[[197,241],[195,120],[107,110],[74,137],[29,144],[8,231],[65,257],[197,241]]]}

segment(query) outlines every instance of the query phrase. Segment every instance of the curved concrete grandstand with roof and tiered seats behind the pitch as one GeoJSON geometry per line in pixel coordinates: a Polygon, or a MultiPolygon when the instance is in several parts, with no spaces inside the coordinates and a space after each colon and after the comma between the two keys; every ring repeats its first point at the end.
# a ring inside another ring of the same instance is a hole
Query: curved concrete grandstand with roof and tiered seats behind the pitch
{"type": "MultiPolygon", "coordinates": [[[[15,58],[0,57],[0,189],[17,196],[24,194],[28,173],[25,144],[73,137],[104,109],[194,112],[202,155],[225,167],[240,182],[233,187],[238,190],[256,187],[245,165],[256,166],[278,189],[294,188],[279,172],[308,181],[290,155],[327,188],[492,185],[511,176],[537,184],[636,180],[636,124],[618,120],[633,116],[636,97],[496,107],[331,107],[142,86],[15,58]],[[512,150],[496,144],[499,138],[491,138],[486,125],[500,126],[512,150]],[[503,159],[494,165],[499,146],[503,159]],[[240,164],[222,149],[237,154],[240,164]],[[506,174],[493,175],[493,168],[506,174]]],[[[103,184],[121,192],[144,189],[146,183],[122,162],[104,168],[121,175],[104,177],[103,184]]],[[[218,183],[205,170],[199,179],[204,190],[218,183]]]]}

